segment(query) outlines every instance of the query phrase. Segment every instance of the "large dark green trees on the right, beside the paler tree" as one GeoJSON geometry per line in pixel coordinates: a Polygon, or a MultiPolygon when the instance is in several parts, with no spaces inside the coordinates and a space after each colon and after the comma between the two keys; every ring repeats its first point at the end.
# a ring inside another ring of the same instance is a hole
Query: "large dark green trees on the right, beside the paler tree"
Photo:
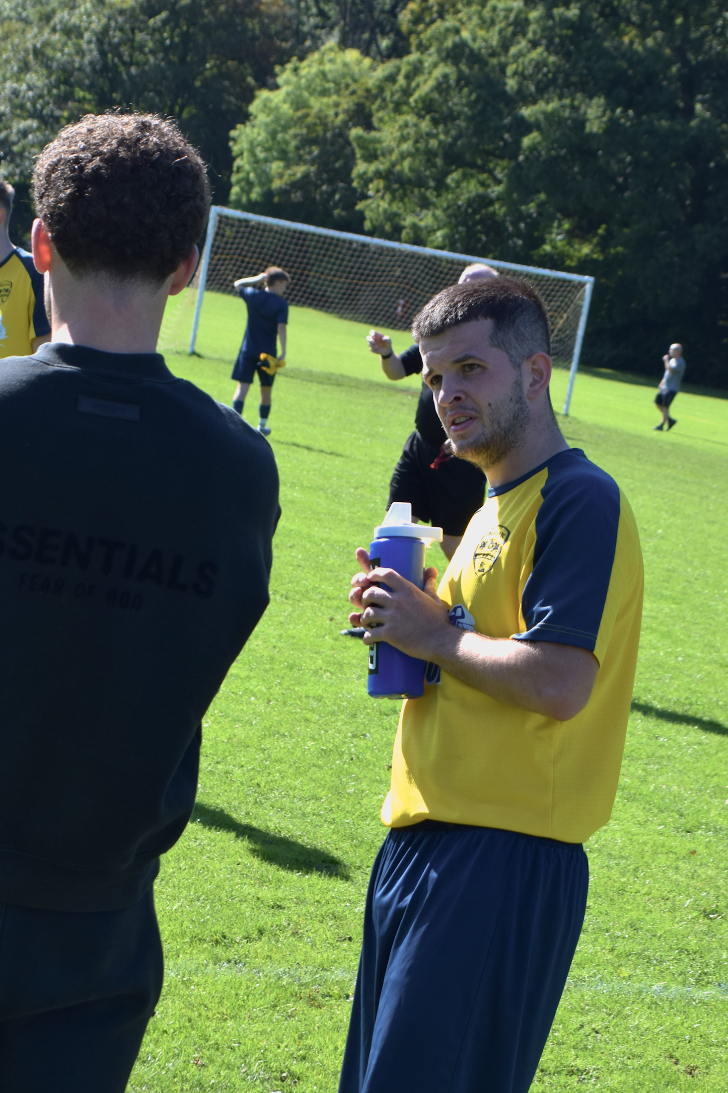
{"type": "Polygon", "coordinates": [[[375,234],[597,278],[589,363],[685,343],[728,386],[728,48],[717,2],[410,5],[352,133],[375,234]]]}

